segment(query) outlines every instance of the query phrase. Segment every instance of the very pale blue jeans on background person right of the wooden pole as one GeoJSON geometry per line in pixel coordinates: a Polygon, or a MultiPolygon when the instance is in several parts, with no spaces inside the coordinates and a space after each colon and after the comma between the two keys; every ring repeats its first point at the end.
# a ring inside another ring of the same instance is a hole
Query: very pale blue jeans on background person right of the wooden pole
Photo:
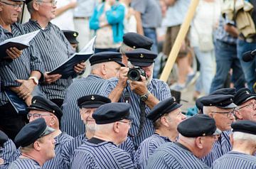
{"type": "Polygon", "coordinates": [[[200,76],[198,80],[196,80],[196,91],[201,92],[203,89],[205,94],[209,94],[210,84],[215,73],[214,50],[202,52],[198,47],[193,48],[193,50],[196,54],[196,58],[198,58],[198,61],[200,62],[200,76]]]}

